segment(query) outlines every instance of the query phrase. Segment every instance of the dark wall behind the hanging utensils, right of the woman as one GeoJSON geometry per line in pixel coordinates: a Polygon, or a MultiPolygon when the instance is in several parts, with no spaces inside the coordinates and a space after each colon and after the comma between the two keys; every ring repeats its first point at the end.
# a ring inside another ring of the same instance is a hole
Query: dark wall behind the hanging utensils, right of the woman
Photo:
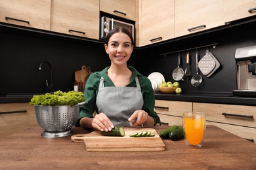
{"type": "MultiPolygon", "coordinates": [[[[233,24],[235,25],[235,24],[233,24]]],[[[236,48],[256,45],[256,22],[236,26],[223,26],[217,31],[208,31],[205,33],[196,33],[194,35],[180,37],[173,39],[171,42],[161,43],[158,46],[150,48],[142,48],[139,50],[140,68],[139,71],[143,75],[150,75],[155,71],[160,72],[165,77],[165,80],[173,82],[173,70],[177,68],[177,56],[179,50],[186,50],[188,48],[196,48],[219,43],[216,48],[208,47],[215,58],[219,61],[221,66],[209,78],[202,74],[202,83],[198,87],[191,85],[192,76],[184,76],[184,81],[180,80],[183,92],[191,93],[232,93],[236,90],[236,60],[234,58],[236,48]],[[175,52],[166,57],[160,54],[166,52],[175,52]]],[[[205,55],[207,47],[198,48],[200,54],[199,60],[205,55]]],[[[186,67],[186,52],[181,54],[181,67],[186,67]]],[[[190,52],[190,69],[192,75],[196,74],[196,49],[189,50],[190,52]]]]}

